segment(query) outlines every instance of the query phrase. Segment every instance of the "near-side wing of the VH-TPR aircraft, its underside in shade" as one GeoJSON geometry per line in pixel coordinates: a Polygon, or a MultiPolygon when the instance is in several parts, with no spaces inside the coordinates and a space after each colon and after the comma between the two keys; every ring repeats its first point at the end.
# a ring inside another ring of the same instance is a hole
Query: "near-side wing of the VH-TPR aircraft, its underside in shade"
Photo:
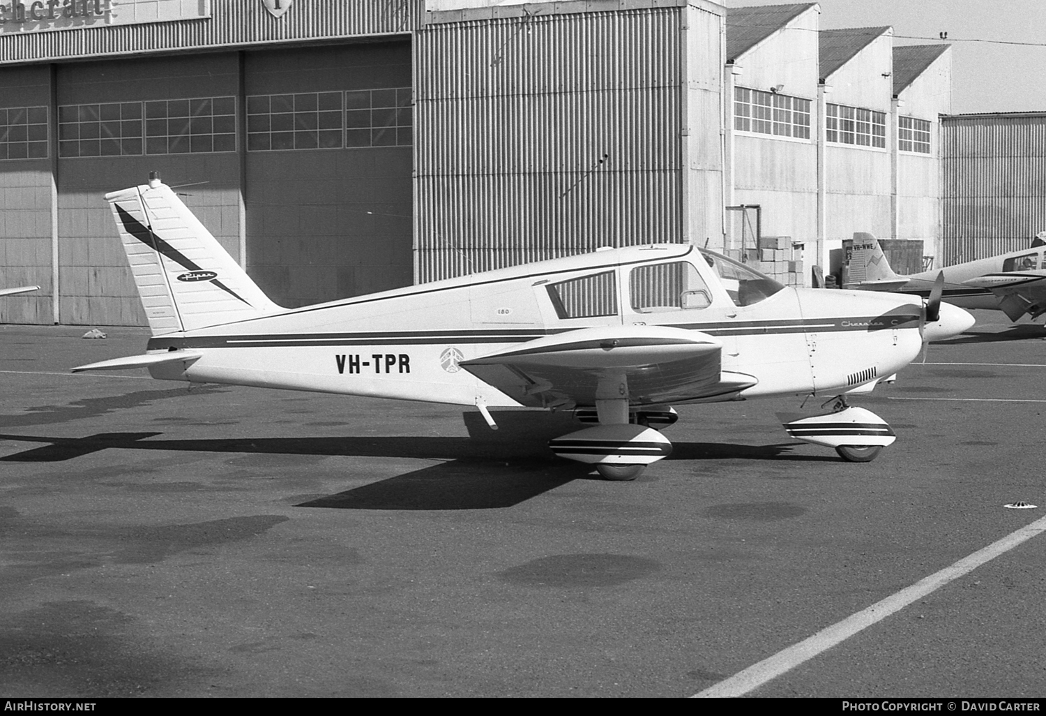
{"type": "Polygon", "coordinates": [[[698,331],[656,326],[578,329],[462,361],[461,367],[523,405],[695,401],[754,385],[723,373],[723,344],[698,331]]]}

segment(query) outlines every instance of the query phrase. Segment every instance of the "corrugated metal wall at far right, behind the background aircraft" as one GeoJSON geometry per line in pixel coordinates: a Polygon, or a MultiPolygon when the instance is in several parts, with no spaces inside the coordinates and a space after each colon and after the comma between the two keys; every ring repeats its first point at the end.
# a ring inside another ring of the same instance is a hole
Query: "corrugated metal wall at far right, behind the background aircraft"
{"type": "Polygon", "coordinates": [[[946,266],[1046,230],[1046,114],[948,116],[941,135],[946,266]]]}

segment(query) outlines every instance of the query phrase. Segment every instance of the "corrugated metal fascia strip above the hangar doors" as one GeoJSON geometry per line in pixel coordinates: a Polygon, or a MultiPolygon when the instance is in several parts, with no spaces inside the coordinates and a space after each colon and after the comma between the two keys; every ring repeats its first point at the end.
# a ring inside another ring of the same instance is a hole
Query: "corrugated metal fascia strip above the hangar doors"
{"type": "Polygon", "coordinates": [[[3,35],[0,63],[408,33],[425,0],[298,0],[278,20],[262,0],[211,0],[210,6],[209,20],[3,35]]]}

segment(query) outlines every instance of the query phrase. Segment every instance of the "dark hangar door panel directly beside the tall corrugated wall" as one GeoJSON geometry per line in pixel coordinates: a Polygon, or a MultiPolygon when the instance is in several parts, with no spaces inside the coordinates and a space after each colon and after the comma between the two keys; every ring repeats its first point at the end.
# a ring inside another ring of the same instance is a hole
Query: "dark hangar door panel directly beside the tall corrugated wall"
{"type": "Polygon", "coordinates": [[[245,53],[248,272],[303,306],[413,282],[410,43],[245,53]]]}

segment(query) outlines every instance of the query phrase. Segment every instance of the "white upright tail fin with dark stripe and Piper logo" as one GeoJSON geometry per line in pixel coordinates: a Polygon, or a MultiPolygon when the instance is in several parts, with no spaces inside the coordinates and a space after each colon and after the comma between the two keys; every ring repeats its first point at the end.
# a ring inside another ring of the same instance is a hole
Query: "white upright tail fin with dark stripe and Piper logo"
{"type": "Polygon", "coordinates": [[[279,313],[159,179],[107,194],[154,336],[279,313]]]}

